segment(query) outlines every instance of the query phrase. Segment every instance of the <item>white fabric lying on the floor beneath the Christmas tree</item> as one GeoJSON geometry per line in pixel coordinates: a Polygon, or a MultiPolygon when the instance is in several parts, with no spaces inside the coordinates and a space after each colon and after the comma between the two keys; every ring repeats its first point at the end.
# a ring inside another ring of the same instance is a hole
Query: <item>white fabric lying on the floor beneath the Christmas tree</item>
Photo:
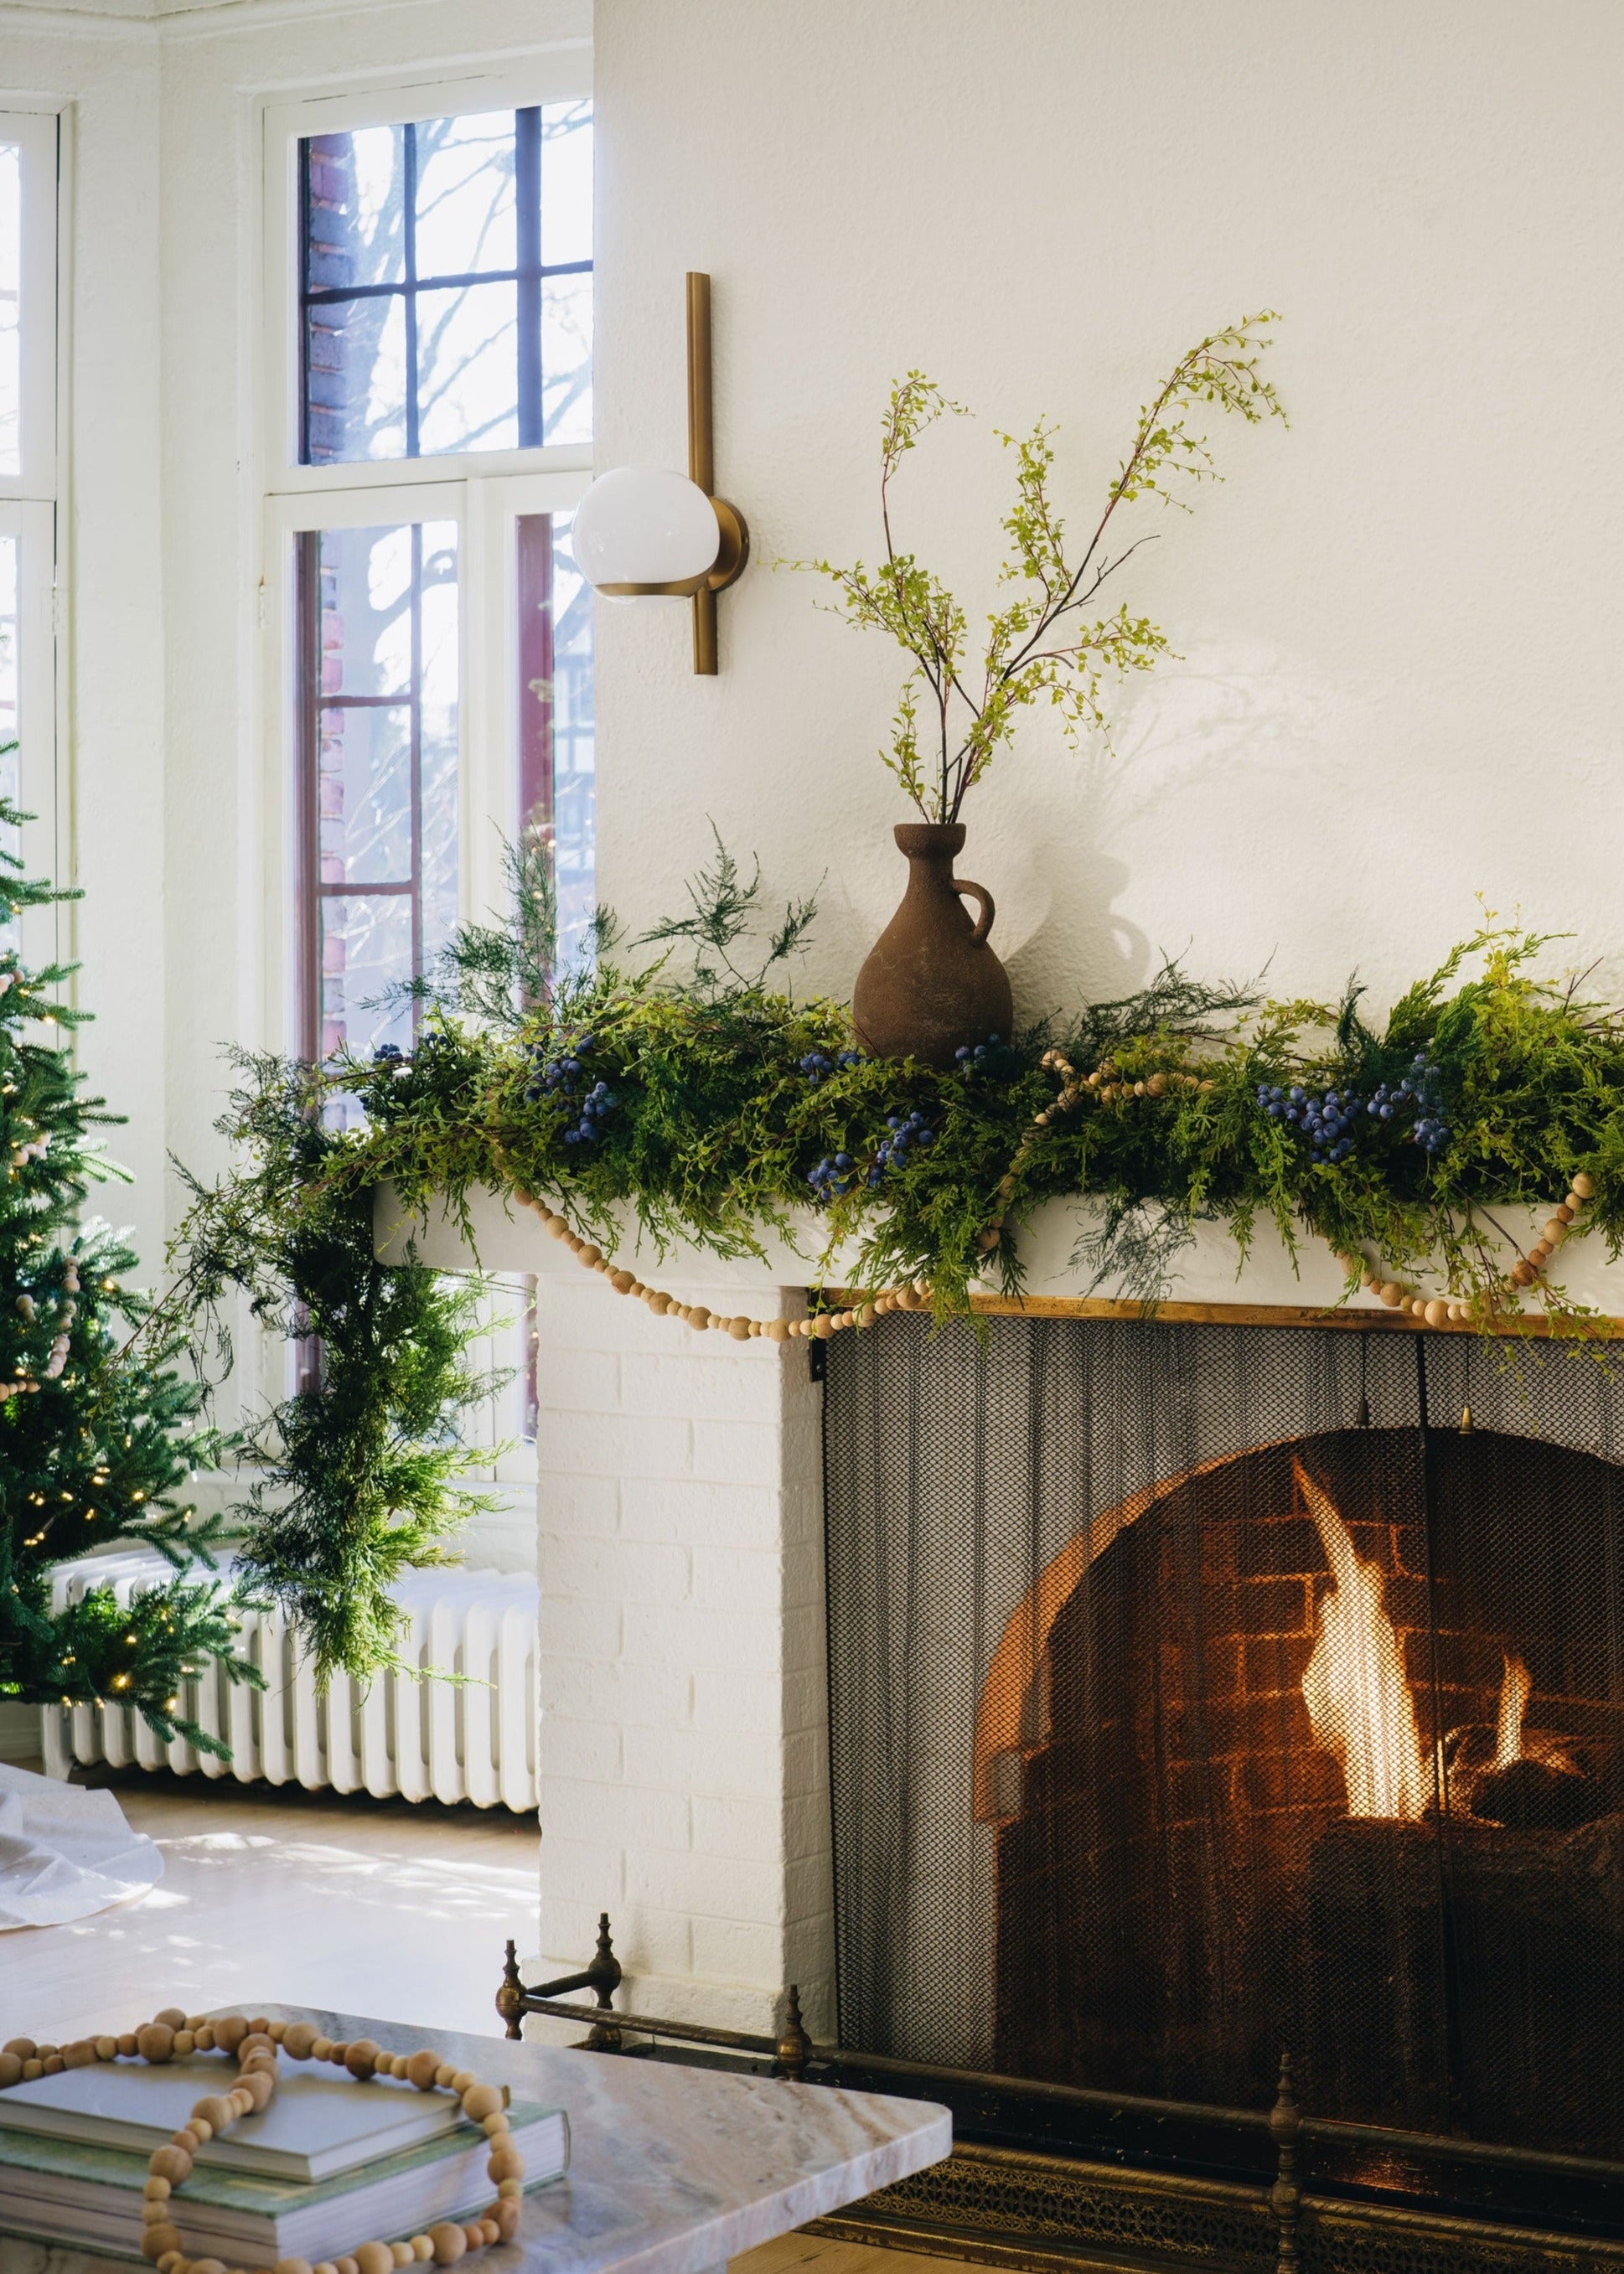
{"type": "Polygon", "coordinates": [[[164,1856],[130,1831],[111,1792],[0,1760],[0,1931],[89,1919],[161,1876],[164,1856]]]}

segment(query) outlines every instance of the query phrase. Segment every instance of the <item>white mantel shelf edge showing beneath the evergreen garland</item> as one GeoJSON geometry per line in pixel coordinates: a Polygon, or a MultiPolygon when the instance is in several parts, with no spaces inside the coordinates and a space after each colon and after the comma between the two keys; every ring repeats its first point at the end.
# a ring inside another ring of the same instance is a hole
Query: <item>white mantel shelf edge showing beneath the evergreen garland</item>
{"type": "MultiPolygon", "coordinates": [[[[1544,1210],[1528,1214],[1524,1246],[1538,1237],[1544,1210]]],[[[580,1278],[580,1264],[569,1248],[550,1239],[530,1210],[512,1207],[496,1192],[471,1196],[469,1242],[450,1212],[409,1217],[393,1187],[384,1185],[375,1201],[378,1255],[405,1262],[407,1255],[439,1271],[532,1271],[541,1278],[580,1278]]],[[[773,1301],[782,1289],[839,1285],[842,1258],[832,1264],[821,1255],[821,1221],[805,1212],[805,1230],[792,1246],[778,1237],[762,1242],[760,1258],[723,1260],[707,1248],[678,1244],[660,1255],[639,1226],[625,1214],[625,1237],[614,1262],[625,1264],[651,1285],[689,1294],[726,1287],[735,1301],[755,1296],[773,1301]]],[[[1524,1230],[1515,1212],[1503,1221],[1524,1230]]],[[[1012,1303],[989,1285],[973,1296],[978,1312],[1028,1312],[1033,1317],[1142,1317],[1142,1305],[1124,1294],[1089,1292],[1087,1276],[1071,1262],[1080,1230],[1087,1226],[1087,1203],[1051,1201],[1021,1230],[1026,1292],[1012,1303]]],[[[1428,1283],[1435,1285],[1435,1283],[1428,1283]]],[[[1563,1287],[1574,1303],[1590,1305],[1608,1328],[1624,1330],[1624,1262],[1608,1264],[1599,1237],[1576,1239],[1563,1255],[1563,1287]]],[[[1228,1319],[1235,1326],[1347,1326],[1412,1330],[1415,1321],[1387,1310],[1376,1296],[1358,1294],[1342,1301],[1342,1271],[1321,1239],[1303,1233],[1292,1258],[1271,1223],[1258,1223],[1253,1248],[1237,1269],[1235,1242],[1219,1226],[1201,1226],[1194,1246],[1178,1260],[1167,1298],[1155,1310],[1169,1323],[1192,1319],[1228,1319]]],[[[1528,1321],[1540,1326],[1538,1312],[1528,1321]]],[[[1474,1333],[1474,1328],[1456,1328],[1474,1333]]]]}

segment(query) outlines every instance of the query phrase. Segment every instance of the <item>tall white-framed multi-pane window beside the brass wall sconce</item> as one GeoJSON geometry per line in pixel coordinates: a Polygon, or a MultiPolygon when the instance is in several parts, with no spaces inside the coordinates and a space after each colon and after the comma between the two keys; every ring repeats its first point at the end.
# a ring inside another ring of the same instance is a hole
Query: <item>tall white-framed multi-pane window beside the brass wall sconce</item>
{"type": "MultiPolygon", "coordinates": [[[[266,728],[287,850],[271,1030],[409,1053],[455,926],[550,853],[591,951],[591,105],[546,86],[266,107],[266,728]],[[271,605],[271,596],[275,605],[271,605]]],[[[334,1101],[334,1117],[355,1112],[334,1101]]],[[[491,1439],[535,1437],[512,1289],[491,1439]]],[[[528,1474],[516,1455],[512,1476],[528,1474]]]]}

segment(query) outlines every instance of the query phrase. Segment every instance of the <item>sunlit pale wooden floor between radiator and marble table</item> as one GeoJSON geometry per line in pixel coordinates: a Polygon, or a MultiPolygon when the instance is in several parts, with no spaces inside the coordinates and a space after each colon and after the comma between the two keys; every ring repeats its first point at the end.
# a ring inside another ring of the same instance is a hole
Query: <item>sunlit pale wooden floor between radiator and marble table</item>
{"type": "MultiPolygon", "coordinates": [[[[32,1765],[36,1767],[36,1765],[32,1765]]],[[[75,1926],[0,1933],[0,2040],[132,2028],[159,2006],[282,1999],[500,2035],[503,1942],[537,1947],[537,1826],[507,1810],[180,1776],[98,1776],[164,1878],[75,1926]]],[[[785,2235],[735,2274],[942,2274],[939,2258],[785,2235]]]]}

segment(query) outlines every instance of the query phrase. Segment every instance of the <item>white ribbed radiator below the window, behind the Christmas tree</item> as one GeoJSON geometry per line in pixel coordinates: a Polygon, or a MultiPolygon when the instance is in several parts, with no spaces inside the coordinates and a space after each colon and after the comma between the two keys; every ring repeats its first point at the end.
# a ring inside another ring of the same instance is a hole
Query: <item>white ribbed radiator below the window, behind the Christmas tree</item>
{"type": "MultiPolygon", "coordinates": [[[[221,1574],[230,1576],[230,1560],[221,1574]]],[[[91,1587],[111,1585],[121,1603],[161,1585],[171,1567],[152,1553],[86,1555],[52,1580],[57,1610],[91,1587]]],[[[264,1690],[227,1683],[218,1667],[182,1685],[180,1710],[232,1749],[200,1753],[184,1737],[164,1744],[127,1706],[45,1706],[43,1756],[50,1776],[75,1760],[116,1769],[177,1769],[189,1776],[264,1776],[312,1792],[375,1792],[380,1799],[473,1801],[478,1808],[537,1806],[537,1610],[539,1590],[523,1571],[412,1571],[393,1590],[409,1615],[400,1655],[409,1667],[464,1676],[457,1683],[380,1674],[366,1692],[348,1674],[325,1696],[298,1653],[280,1610],[243,1612],[241,1653],[264,1690]]]]}

